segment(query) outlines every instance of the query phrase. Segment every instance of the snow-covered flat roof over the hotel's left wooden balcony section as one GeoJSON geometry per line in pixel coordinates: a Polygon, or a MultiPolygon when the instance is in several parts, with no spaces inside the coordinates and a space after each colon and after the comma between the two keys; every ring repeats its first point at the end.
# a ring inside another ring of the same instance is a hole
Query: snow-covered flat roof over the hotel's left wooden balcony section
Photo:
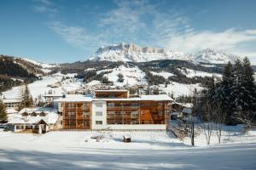
{"type": "Polygon", "coordinates": [[[55,102],[79,102],[79,101],[92,101],[92,96],[82,94],[67,94],[65,98],[55,99],[55,102]]]}

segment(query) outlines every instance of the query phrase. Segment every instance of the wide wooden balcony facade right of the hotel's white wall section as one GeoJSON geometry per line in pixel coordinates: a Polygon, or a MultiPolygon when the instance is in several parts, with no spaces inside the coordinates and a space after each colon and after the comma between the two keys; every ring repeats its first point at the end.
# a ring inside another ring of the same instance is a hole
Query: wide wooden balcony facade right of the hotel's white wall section
{"type": "Polygon", "coordinates": [[[108,124],[166,124],[166,101],[108,101],[108,124]]]}

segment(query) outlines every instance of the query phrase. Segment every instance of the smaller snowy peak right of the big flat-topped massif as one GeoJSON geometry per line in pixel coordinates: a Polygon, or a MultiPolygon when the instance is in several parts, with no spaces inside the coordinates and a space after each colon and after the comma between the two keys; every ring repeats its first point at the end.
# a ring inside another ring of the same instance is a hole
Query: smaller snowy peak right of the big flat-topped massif
{"type": "Polygon", "coordinates": [[[202,63],[225,64],[229,61],[235,63],[239,57],[234,54],[227,54],[222,51],[207,48],[195,54],[195,61],[202,63]]]}

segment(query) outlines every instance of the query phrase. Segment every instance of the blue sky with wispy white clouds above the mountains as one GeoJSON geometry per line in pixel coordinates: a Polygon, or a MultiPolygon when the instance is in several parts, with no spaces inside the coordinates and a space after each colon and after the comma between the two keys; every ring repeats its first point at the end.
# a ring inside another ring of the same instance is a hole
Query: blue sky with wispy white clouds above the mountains
{"type": "Polygon", "coordinates": [[[0,54],[63,63],[133,42],[188,53],[213,48],[256,64],[255,8],[254,0],[0,0],[0,54]]]}

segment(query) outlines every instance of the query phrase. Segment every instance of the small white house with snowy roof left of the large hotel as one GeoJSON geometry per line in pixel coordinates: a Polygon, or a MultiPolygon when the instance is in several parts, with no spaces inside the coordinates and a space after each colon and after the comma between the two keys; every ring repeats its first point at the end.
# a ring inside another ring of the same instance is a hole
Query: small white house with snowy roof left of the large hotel
{"type": "Polygon", "coordinates": [[[54,129],[59,115],[52,108],[25,108],[9,118],[14,132],[46,133],[54,129]]]}

